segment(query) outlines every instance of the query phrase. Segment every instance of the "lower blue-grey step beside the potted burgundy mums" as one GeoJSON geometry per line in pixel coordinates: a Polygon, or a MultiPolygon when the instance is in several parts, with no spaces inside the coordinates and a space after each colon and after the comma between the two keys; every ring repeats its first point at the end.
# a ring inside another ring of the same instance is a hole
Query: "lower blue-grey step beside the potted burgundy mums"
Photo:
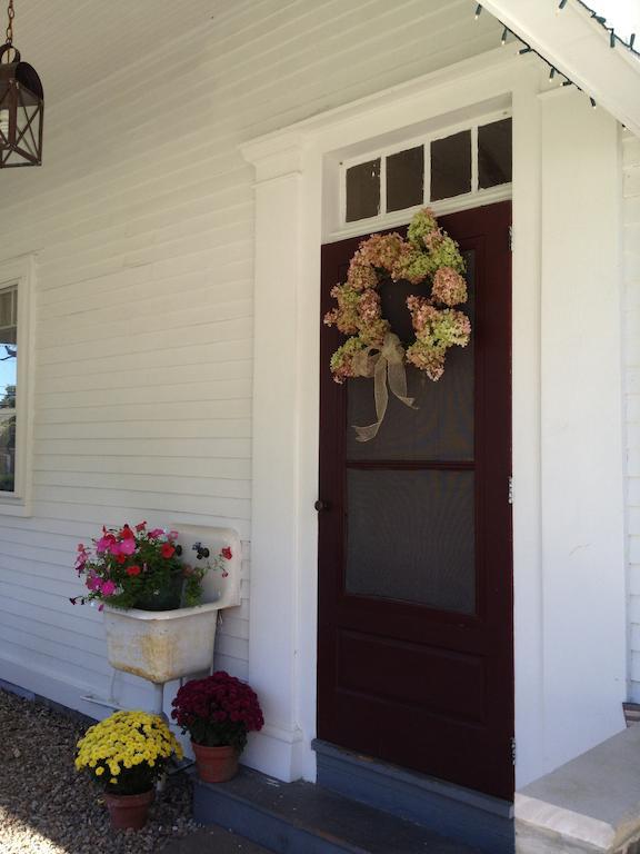
{"type": "Polygon", "coordinates": [[[280,783],[247,768],[229,783],[194,779],[193,816],[279,854],[478,854],[311,783],[280,783]]]}

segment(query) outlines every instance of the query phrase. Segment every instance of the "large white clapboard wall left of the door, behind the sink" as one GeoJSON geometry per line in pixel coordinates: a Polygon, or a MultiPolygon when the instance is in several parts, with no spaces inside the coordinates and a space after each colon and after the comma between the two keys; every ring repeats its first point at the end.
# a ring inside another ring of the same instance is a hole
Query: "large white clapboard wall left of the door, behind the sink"
{"type": "MultiPolygon", "coordinates": [[[[91,1],[81,41],[99,63],[91,1]]],[[[174,4],[156,14],[172,29],[174,4]]],[[[38,64],[47,21],[30,20],[38,64]]],[[[0,261],[37,254],[37,300],[32,516],[0,514],[0,679],[96,715],[80,695],[110,691],[102,620],[69,597],[76,546],[102,524],[239,532],[242,604],[222,615],[216,666],[248,675],[253,172],[239,145],[500,37],[469,0],[234,0],[204,21],[148,52],[131,37],[131,63],[104,79],[86,54],[67,97],[56,64],[44,166],[2,175],[0,261]]],[[[148,697],[126,674],[113,686],[124,705],[148,697]]]]}

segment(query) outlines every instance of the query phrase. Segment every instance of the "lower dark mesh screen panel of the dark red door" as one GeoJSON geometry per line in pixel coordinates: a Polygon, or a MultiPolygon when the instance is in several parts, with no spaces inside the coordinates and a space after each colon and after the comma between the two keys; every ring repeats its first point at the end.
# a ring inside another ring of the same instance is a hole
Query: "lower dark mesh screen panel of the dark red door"
{"type": "Polygon", "coordinates": [[[476,610],[473,471],[350,469],[347,592],[476,610]]]}

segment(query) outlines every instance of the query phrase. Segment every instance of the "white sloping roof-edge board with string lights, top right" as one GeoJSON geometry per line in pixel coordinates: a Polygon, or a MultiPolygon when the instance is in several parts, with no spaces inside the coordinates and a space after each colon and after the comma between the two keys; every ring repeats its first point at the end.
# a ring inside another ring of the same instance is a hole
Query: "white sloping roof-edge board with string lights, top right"
{"type": "MultiPolygon", "coordinates": [[[[571,0],[561,11],[559,0],[483,0],[482,4],[640,136],[640,57],[620,44],[612,49],[607,32],[580,3],[571,0]]],[[[602,3],[593,0],[591,6],[602,3]]]]}

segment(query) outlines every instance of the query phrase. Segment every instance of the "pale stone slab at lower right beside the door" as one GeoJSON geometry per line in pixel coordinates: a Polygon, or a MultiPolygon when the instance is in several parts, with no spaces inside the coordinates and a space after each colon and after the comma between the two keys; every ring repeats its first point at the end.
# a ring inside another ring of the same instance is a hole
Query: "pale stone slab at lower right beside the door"
{"type": "Polygon", "coordinates": [[[640,854],[640,726],[516,795],[518,854],[640,854]]]}

